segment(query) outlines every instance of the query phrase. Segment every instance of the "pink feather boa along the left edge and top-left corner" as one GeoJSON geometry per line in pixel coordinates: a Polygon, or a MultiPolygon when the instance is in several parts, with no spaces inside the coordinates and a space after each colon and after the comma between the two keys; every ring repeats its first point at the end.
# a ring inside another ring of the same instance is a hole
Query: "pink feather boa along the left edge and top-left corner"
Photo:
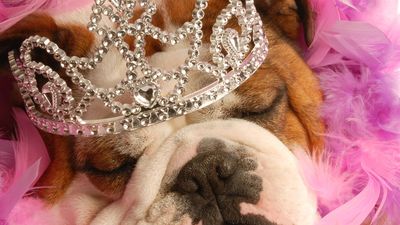
{"type": "MultiPolygon", "coordinates": [[[[92,3],[92,0],[0,0],[0,33],[23,19],[41,11],[62,13],[92,3]]],[[[43,203],[23,198],[47,168],[50,159],[40,134],[22,110],[12,111],[9,96],[12,81],[0,77],[0,225],[57,224],[45,216],[43,203]],[[10,140],[13,124],[17,139],[10,140]]]]}

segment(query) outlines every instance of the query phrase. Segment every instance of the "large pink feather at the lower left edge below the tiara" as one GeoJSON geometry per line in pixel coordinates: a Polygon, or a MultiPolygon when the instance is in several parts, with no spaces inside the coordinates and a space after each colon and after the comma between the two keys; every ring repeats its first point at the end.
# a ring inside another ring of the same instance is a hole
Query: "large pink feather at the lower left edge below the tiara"
{"type": "Polygon", "coordinates": [[[0,140],[0,221],[6,221],[15,205],[46,170],[50,158],[43,140],[25,112],[14,110],[18,140],[0,140]]]}

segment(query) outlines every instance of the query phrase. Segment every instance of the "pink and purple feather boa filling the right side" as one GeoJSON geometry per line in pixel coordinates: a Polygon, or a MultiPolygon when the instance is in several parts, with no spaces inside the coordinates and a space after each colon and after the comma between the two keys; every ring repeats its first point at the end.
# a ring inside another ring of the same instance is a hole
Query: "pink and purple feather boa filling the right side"
{"type": "Polygon", "coordinates": [[[397,0],[312,0],[306,51],[325,94],[326,150],[300,156],[321,225],[400,224],[400,15],[397,0]]]}

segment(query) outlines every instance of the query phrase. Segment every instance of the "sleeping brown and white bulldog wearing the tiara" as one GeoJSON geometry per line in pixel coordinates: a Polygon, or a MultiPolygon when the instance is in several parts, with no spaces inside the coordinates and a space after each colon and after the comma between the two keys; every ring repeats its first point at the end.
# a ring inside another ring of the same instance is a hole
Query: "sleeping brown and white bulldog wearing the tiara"
{"type": "MultiPolygon", "coordinates": [[[[195,0],[153,2],[157,11],[152,23],[167,31],[190,21],[196,4],[195,0]]],[[[228,3],[208,1],[202,21],[204,59],[210,58],[207,47],[213,24],[228,3]]],[[[315,196],[292,153],[305,149],[318,154],[323,147],[322,95],[297,46],[300,33],[307,43],[312,41],[310,6],[306,0],[255,0],[255,6],[269,40],[268,57],[248,81],[221,100],[132,132],[100,137],[41,132],[52,162],[39,181],[38,186],[46,188],[38,196],[48,203],[48,213],[59,218],[59,225],[312,225],[318,221],[315,196]]],[[[142,11],[136,7],[131,20],[139,19],[142,11]]],[[[49,38],[70,56],[93,54],[101,39],[87,29],[91,12],[92,6],[51,16],[37,12],[1,33],[2,75],[10,74],[8,53],[18,52],[33,35],[49,38]]],[[[103,23],[113,26],[111,21],[103,23]]],[[[228,26],[239,27],[235,20],[228,26]]],[[[135,48],[134,36],[125,41],[135,48]]],[[[176,68],[189,47],[188,42],[170,46],[146,37],[146,58],[152,66],[176,68]]],[[[46,52],[37,50],[34,57],[65,76],[46,52]]],[[[125,70],[121,54],[110,49],[102,63],[84,75],[107,88],[122,80],[125,70]]],[[[191,76],[188,89],[209,82],[200,73],[191,76]]],[[[13,104],[23,106],[17,88],[15,93],[13,104]]],[[[85,117],[107,118],[110,113],[94,104],[85,117]]]]}

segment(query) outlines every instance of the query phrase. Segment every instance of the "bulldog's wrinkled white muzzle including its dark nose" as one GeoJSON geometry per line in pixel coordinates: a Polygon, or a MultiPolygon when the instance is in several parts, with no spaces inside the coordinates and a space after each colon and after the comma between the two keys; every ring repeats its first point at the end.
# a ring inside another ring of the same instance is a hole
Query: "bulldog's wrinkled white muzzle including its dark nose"
{"type": "Polygon", "coordinates": [[[314,224],[294,155],[244,120],[186,126],[138,160],[122,197],[77,176],[52,213],[65,224],[314,224]]]}

